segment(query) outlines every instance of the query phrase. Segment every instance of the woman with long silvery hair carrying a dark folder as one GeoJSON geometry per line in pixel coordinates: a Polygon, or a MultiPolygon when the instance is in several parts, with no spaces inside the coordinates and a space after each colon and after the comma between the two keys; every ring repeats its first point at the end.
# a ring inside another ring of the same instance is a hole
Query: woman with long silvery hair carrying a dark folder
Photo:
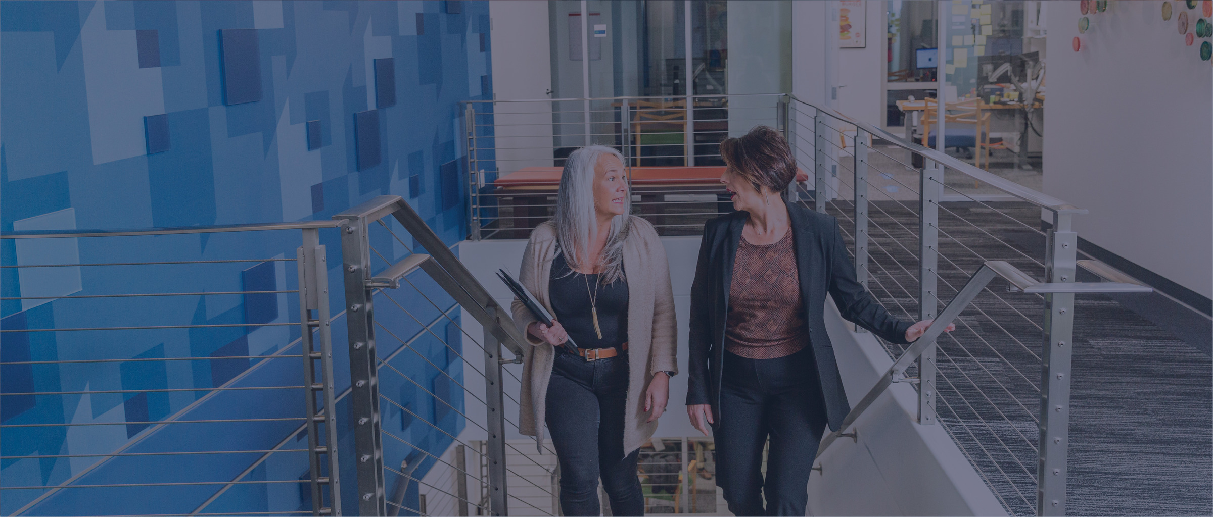
{"type": "Polygon", "coordinates": [[[623,156],[600,145],[577,149],[564,163],[556,217],[523,252],[519,282],[556,321],[539,323],[513,303],[534,345],[523,362],[520,427],[542,438],[547,424],[565,516],[599,515],[599,477],[611,515],[644,513],[637,455],[678,369],[665,248],[630,211],[623,156]],[[564,346],[570,337],[576,354],[564,346]]]}

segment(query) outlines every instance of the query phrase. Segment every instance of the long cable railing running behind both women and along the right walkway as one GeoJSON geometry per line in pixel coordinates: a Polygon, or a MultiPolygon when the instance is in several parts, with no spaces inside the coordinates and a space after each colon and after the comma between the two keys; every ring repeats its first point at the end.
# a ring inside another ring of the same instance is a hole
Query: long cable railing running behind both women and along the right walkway
{"type": "MultiPolygon", "coordinates": [[[[563,156],[587,144],[623,155],[637,216],[696,235],[733,211],[708,170],[723,165],[717,144],[758,123],[807,176],[788,202],[838,218],[860,281],[901,318],[939,316],[989,263],[1049,285],[1074,283],[1080,263],[1111,275],[1077,260],[1084,209],[791,94],[466,102],[469,236],[525,239],[554,213],[563,156]]],[[[961,308],[957,329],[890,383],[916,387],[918,423],[939,420],[1009,513],[1063,515],[1074,293],[983,285],[961,308]]]]}

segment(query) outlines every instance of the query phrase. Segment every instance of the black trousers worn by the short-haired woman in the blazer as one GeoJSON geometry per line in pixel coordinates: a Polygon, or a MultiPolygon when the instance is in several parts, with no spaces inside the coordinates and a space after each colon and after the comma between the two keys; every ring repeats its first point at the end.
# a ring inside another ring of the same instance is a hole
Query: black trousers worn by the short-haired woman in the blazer
{"type": "Polygon", "coordinates": [[[751,360],[724,352],[716,484],[739,516],[803,516],[818,443],[826,426],[825,400],[813,350],[751,360]],[[762,449],[770,437],[767,479],[762,449]],[[763,495],[767,505],[763,507],[763,495]]]}

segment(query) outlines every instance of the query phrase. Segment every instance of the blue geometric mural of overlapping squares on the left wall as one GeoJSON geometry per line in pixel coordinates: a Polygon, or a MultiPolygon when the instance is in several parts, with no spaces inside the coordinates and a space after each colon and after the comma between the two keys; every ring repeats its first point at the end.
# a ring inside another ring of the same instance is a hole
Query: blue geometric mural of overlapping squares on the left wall
{"type": "MultiPolygon", "coordinates": [[[[466,156],[456,137],[463,117],[459,103],[491,98],[490,48],[488,2],[0,1],[0,231],[328,220],[374,196],[395,194],[454,245],[465,237],[467,212],[466,156]]],[[[404,242],[416,247],[397,228],[404,242]]],[[[330,253],[330,301],[337,312],[340,236],[321,230],[320,239],[330,253]]],[[[386,236],[375,239],[382,240],[375,246],[388,251],[388,259],[408,253],[386,236]]],[[[0,455],[24,458],[0,460],[0,484],[120,483],[136,475],[182,471],[206,481],[227,472],[186,460],[149,467],[45,458],[51,455],[107,454],[124,447],[155,452],[180,449],[180,443],[261,449],[290,436],[296,441],[289,448],[306,448],[306,433],[294,423],[218,433],[148,424],[218,410],[220,403],[224,410],[257,404],[283,408],[287,417],[302,414],[301,397],[290,394],[212,401],[204,397],[206,391],[156,391],[210,390],[254,377],[278,385],[298,383],[300,363],[263,358],[298,354],[298,327],[284,324],[298,318],[296,295],[264,293],[297,288],[291,260],[298,231],[33,241],[0,240],[0,264],[152,257],[213,263],[0,269],[2,298],[75,297],[0,300],[4,331],[198,327],[0,333],[0,362],[22,363],[0,364],[0,391],[80,392],[5,396],[0,423],[90,424],[4,429],[0,455]],[[262,293],[216,294],[243,291],[262,293]],[[82,298],[146,292],[209,294],[82,298]],[[55,362],[99,357],[112,362],[55,362]],[[69,481],[86,470],[87,476],[69,481]]],[[[437,304],[448,304],[443,310],[452,303],[437,287],[423,289],[437,304]]],[[[418,318],[440,317],[428,304],[408,306],[418,318]]],[[[420,332],[409,316],[383,317],[385,324],[408,335],[420,332]]],[[[344,350],[343,316],[332,324],[332,345],[344,350]]],[[[448,328],[445,335],[456,334],[448,328]]],[[[380,346],[391,349],[389,343],[380,346]]],[[[416,418],[398,409],[392,414],[414,446],[440,454],[450,443],[444,432],[457,435],[463,425],[456,418],[463,409],[454,384],[462,383],[461,361],[437,339],[418,339],[412,346],[449,372],[437,372],[416,355],[405,361],[408,351],[393,363],[426,389],[456,398],[455,410],[439,403],[443,431],[420,421],[435,418],[434,402],[423,390],[393,385],[383,392],[411,397],[404,402],[417,408],[416,418]]],[[[335,370],[348,386],[348,364],[335,370]]],[[[348,400],[336,410],[343,419],[340,447],[353,450],[352,424],[344,420],[348,400]]],[[[433,464],[411,448],[397,453],[426,461],[415,471],[418,477],[433,464]]],[[[354,490],[352,461],[347,454],[341,469],[343,486],[354,490]]],[[[243,469],[224,469],[233,466],[243,469]]],[[[292,479],[308,475],[306,454],[284,454],[260,469],[289,472],[292,479]]],[[[160,493],[160,500],[178,509],[148,506],[155,498],[131,498],[129,492],[86,496],[90,493],[61,490],[35,502],[42,492],[5,490],[0,513],[96,513],[98,498],[112,501],[107,511],[116,513],[189,513],[213,492],[204,487],[160,493]]],[[[342,499],[349,513],[357,509],[357,494],[347,492],[342,499]]],[[[306,486],[287,483],[233,489],[203,511],[294,511],[306,507],[307,498],[306,486]],[[270,500],[295,506],[266,507],[270,500]]]]}

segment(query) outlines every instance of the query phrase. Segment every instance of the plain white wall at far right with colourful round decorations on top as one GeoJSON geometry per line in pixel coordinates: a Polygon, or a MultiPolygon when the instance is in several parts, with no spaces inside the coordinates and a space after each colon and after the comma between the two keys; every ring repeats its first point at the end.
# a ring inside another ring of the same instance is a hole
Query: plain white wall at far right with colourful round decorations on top
{"type": "Polygon", "coordinates": [[[1213,68],[1160,12],[1115,2],[1074,52],[1078,2],[1050,5],[1044,193],[1090,211],[1080,237],[1213,297],[1213,68]]]}

